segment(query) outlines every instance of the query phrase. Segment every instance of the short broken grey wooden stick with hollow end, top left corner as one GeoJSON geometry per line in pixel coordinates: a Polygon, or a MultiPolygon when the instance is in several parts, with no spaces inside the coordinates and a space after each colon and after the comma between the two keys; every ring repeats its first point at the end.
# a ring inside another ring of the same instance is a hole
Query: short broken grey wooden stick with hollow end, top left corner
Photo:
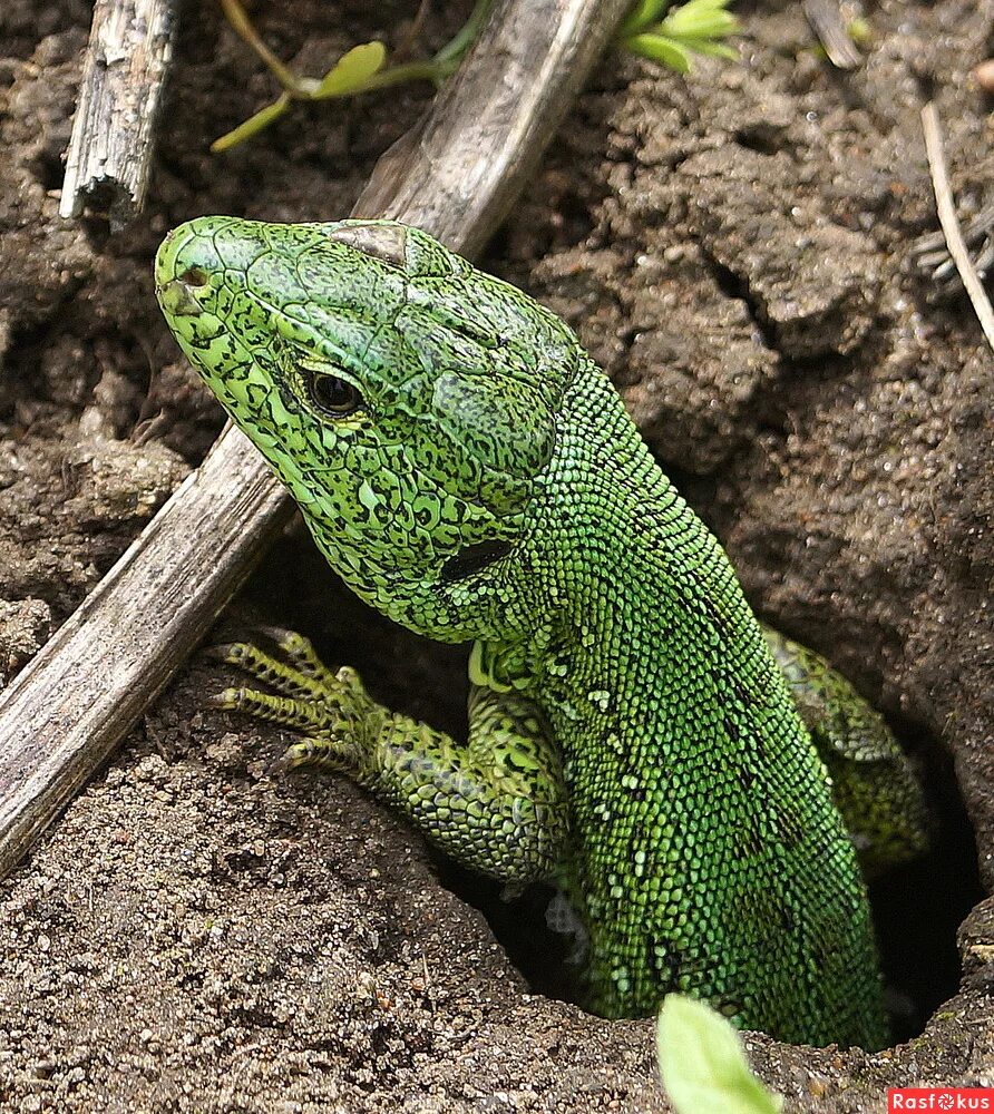
{"type": "Polygon", "coordinates": [[[87,202],[114,227],[142,208],[176,25],[174,0],[97,0],[66,153],[59,216],[87,202]]]}

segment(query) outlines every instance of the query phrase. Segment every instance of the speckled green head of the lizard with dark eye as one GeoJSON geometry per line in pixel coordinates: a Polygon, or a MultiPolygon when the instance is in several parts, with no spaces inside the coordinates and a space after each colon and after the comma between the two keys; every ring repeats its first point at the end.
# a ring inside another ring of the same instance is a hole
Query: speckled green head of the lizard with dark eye
{"type": "Polygon", "coordinates": [[[435,638],[510,633],[565,325],[391,222],[201,217],[160,246],[156,292],[353,590],[435,638]]]}

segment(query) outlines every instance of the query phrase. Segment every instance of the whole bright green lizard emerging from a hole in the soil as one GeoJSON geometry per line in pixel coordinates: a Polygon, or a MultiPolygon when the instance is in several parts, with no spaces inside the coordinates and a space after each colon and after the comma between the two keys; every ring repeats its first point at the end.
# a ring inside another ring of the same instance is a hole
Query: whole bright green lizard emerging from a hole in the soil
{"type": "MultiPolygon", "coordinates": [[[[782,1039],[885,1044],[822,759],[728,558],[573,333],[390,222],[203,217],[167,237],[156,282],[352,590],[472,644],[465,743],[295,635],[282,659],[227,647],[280,695],[228,690],[224,706],[295,729],[285,766],[349,774],[471,868],[557,885],[596,1012],[644,1015],[679,989],[782,1039]]],[[[803,690],[819,659],[770,637],[803,690]]],[[[893,743],[883,759],[822,743],[842,765],[883,761],[874,807],[893,783],[885,811],[917,800],[893,743]]]]}

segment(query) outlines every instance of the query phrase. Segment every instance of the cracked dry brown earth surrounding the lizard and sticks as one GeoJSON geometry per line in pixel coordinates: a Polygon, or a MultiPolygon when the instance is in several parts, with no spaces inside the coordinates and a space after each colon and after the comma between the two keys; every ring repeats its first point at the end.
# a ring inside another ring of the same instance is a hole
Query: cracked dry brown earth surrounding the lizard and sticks
{"type": "MultiPolygon", "coordinates": [[[[320,72],[353,42],[400,41],[416,7],[290,0],[257,18],[320,72]]],[[[686,79],[606,58],[485,262],[577,329],[756,607],[842,667],[922,764],[937,849],[874,895],[903,1043],[747,1042],[788,1111],[842,1114],[881,1111],[894,1085],[994,1084],[992,361],[965,303],[934,303],[907,262],[935,226],[929,96],[964,213],[991,201],[991,105],[968,71],[994,6],[869,4],[850,75],[798,7],[744,6],[740,63],[686,79]]],[[[430,11],[423,48],[464,14],[430,11]]],[[[272,88],[214,8],[187,3],[147,213],[114,234],[98,214],[62,223],[89,18],[81,0],[0,9],[4,681],[220,427],[155,309],[164,232],[205,212],[344,214],[427,96],[301,110],[212,158],[272,88]]],[[[299,528],[217,639],[259,619],[459,730],[460,651],[367,612],[299,528]]],[[[203,710],[226,680],[194,658],[0,883],[0,1111],[666,1110],[650,1023],[529,989],[466,899],[495,925],[499,903],[442,886],[352,786],[266,778],[285,739],[203,710]]],[[[508,919],[534,929],[500,931],[540,974],[537,925],[508,919]]]]}

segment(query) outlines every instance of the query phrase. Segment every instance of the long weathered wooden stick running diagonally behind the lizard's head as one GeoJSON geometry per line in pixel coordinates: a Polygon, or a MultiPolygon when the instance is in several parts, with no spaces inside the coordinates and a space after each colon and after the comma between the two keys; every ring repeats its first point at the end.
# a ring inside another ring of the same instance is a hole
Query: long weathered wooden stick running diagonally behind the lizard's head
{"type": "MultiPolygon", "coordinates": [[[[381,159],[353,212],[389,213],[460,251],[484,243],[628,4],[500,0],[458,79],[381,159]]],[[[168,683],[286,514],[262,457],[228,429],[0,695],[0,874],[168,683]]]]}

